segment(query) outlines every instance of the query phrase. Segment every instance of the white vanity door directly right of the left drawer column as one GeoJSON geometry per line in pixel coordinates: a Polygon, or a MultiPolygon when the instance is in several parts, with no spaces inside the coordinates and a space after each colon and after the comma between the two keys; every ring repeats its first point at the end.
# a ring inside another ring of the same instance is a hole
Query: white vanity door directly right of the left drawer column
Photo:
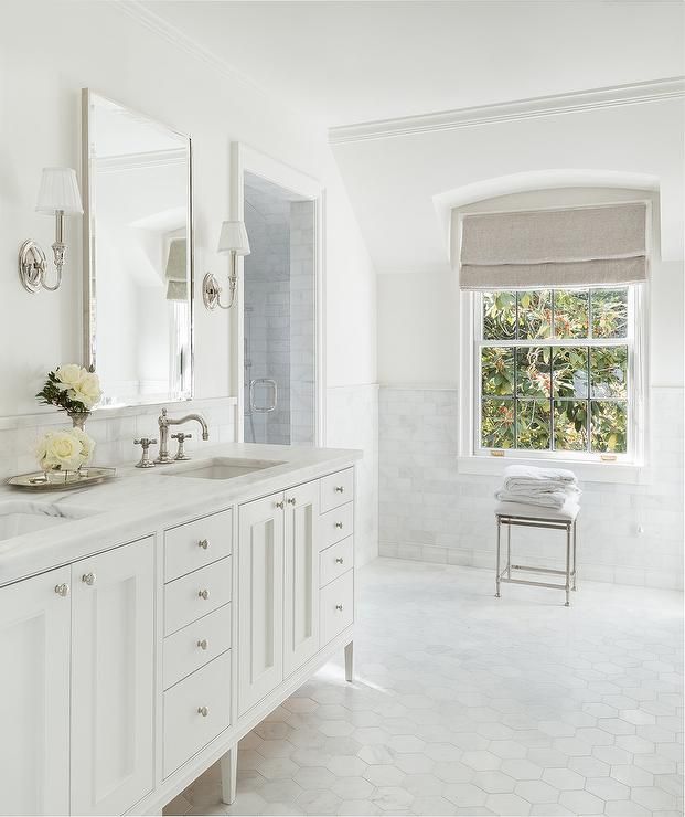
{"type": "Polygon", "coordinates": [[[283,677],[285,498],[240,506],[238,523],[238,714],[283,677]]]}

